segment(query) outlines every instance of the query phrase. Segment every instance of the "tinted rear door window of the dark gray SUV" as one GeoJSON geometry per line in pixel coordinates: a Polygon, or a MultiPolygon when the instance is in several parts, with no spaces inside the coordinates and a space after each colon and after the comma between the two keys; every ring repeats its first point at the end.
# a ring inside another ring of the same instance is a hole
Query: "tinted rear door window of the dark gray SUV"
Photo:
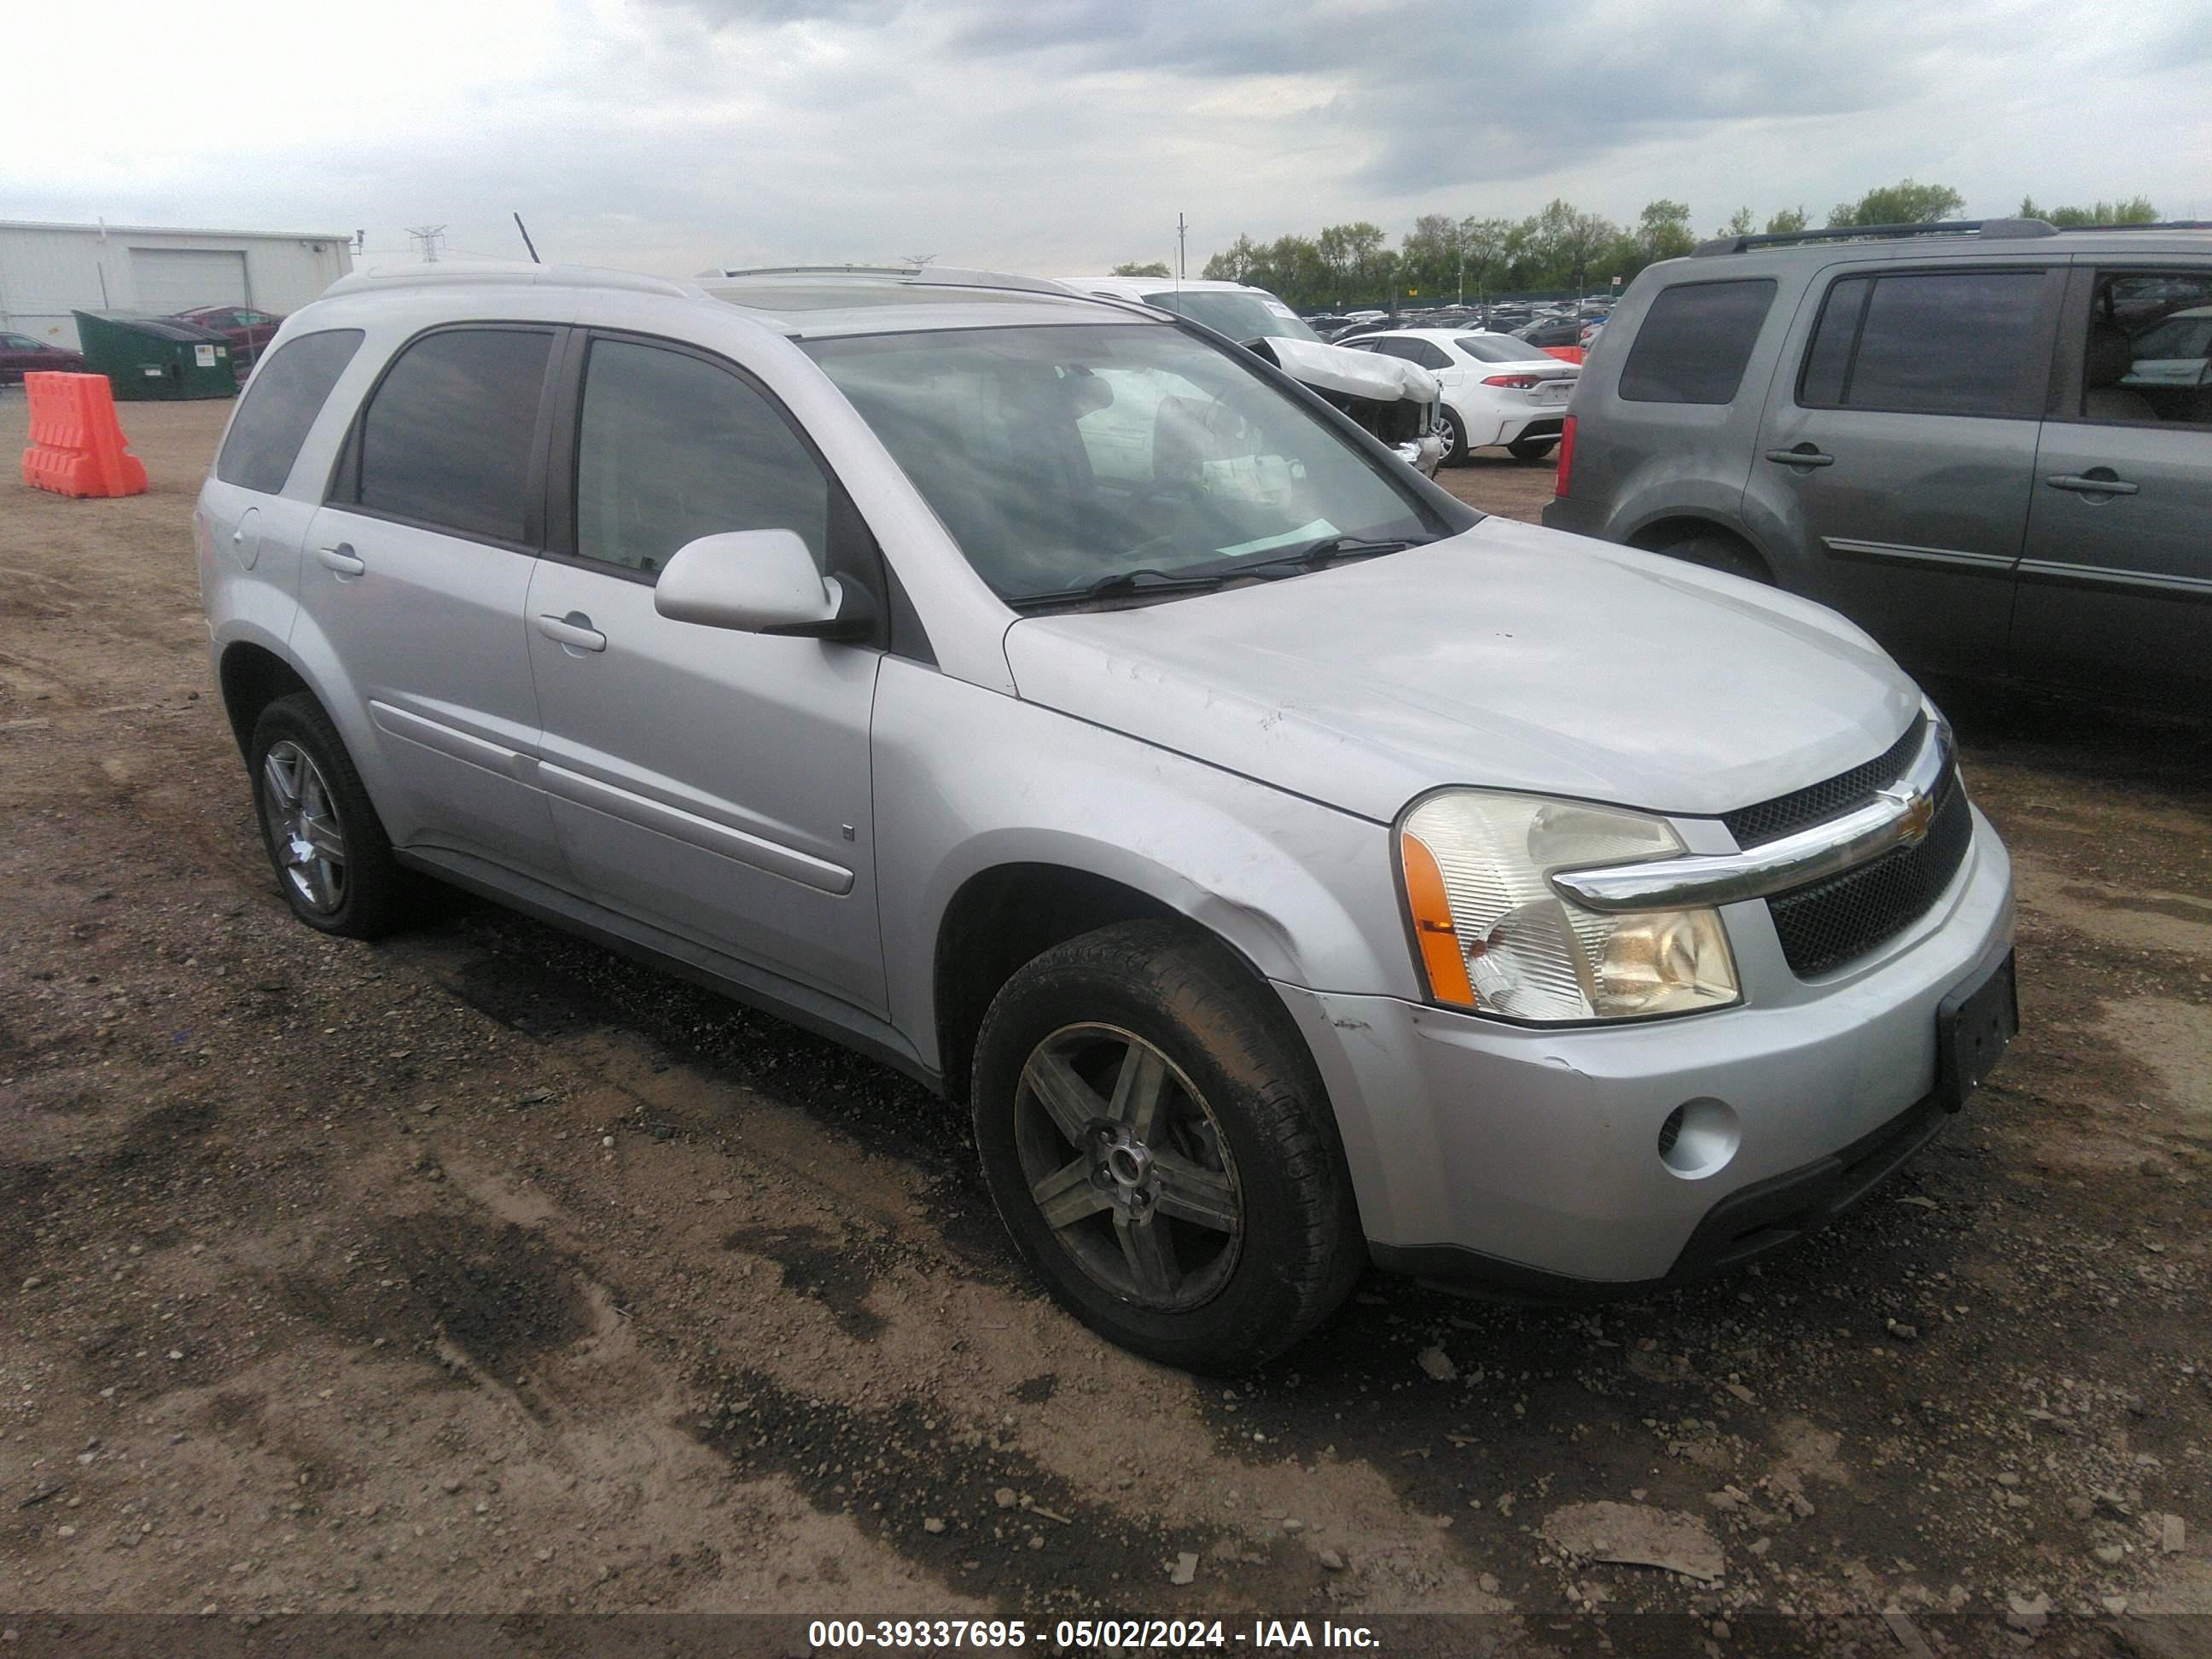
{"type": "Polygon", "coordinates": [[[2044,272],[1882,274],[1854,307],[1847,290],[1867,281],[1836,283],[1829,292],[1798,383],[1801,403],[1913,414],[2039,411],[2048,378],[2044,272]]]}

